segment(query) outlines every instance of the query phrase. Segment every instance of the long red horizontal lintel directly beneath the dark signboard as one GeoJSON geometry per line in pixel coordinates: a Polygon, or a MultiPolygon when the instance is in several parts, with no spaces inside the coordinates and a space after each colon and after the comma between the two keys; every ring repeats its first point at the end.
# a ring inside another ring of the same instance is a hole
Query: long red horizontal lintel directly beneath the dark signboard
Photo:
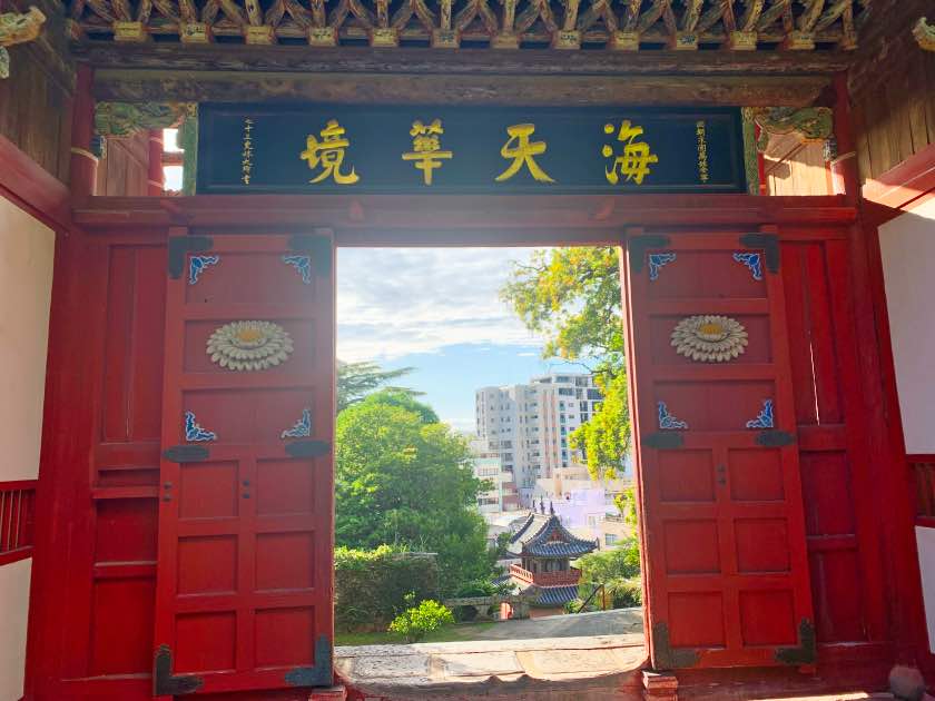
{"type": "Polygon", "coordinates": [[[765,221],[820,227],[847,225],[856,216],[840,197],[199,195],[92,197],[79,206],[75,221],[87,230],[184,221],[210,231],[268,225],[274,210],[291,233],[296,227],[332,228],[342,246],[606,244],[621,240],[627,227],[637,225],[671,231],[703,219],[734,228],[765,221]]]}

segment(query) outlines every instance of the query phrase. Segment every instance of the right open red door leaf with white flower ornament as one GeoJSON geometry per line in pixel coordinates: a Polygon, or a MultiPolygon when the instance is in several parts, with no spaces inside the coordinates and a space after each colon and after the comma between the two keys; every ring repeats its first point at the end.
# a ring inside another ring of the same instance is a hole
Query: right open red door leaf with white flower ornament
{"type": "Polygon", "coordinates": [[[652,664],[811,664],[778,237],[634,236],[621,270],[652,664]]]}

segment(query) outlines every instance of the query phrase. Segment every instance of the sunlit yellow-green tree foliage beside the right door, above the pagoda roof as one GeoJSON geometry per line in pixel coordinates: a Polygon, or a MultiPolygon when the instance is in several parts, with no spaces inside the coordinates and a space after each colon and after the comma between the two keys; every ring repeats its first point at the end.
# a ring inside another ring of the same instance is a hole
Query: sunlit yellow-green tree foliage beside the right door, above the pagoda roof
{"type": "Polygon", "coordinates": [[[501,289],[526,328],[544,334],[543,356],[578,361],[596,374],[603,401],[571,436],[594,480],[616,476],[630,445],[620,269],[614,247],[538,250],[514,264],[501,289]]]}

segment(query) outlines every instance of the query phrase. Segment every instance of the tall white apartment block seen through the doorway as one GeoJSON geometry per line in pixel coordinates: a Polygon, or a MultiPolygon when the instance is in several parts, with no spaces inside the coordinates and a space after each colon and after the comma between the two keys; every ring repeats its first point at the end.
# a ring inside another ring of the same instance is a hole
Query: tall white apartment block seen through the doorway
{"type": "Polygon", "coordinates": [[[593,416],[601,394],[588,373],[553,373],[525,385],[475,392],[478,436],[513,473],[520,502],[528,506],[539,478],[583,460],[569,435],[593,416]]]}

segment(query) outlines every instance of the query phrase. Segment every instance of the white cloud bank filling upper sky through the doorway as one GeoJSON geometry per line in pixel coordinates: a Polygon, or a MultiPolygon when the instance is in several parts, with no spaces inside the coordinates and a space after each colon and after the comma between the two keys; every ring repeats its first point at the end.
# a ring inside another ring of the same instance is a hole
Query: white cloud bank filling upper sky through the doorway
{"type": "Polygon", "coordinates": [[[531,251],[338,249],[338,357],[380,361],[454,344],[540,344],[499,298],[510,260],[526,260],[531,251]]]}

